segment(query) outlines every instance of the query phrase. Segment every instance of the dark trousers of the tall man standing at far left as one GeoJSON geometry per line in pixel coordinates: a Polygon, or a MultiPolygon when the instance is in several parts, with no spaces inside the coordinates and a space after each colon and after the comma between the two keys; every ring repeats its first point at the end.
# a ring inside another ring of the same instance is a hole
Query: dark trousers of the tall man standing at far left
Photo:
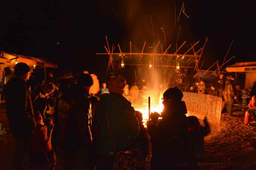
{"type": "Polygon", "coordinates": [[[15,138],[15,153],[12,169],[13,170],[22,170],[23,162],[28,152],[28,138],[15,138]]]}

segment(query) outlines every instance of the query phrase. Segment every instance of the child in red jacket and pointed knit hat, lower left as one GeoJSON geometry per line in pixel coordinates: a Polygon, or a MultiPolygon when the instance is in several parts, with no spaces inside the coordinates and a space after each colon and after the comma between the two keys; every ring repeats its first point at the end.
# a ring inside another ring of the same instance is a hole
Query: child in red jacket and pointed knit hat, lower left
{"type": "Polygon", "coordinates": [[[50,166],[55,169],[56,156],[51,145],[52,128],[50,137],[47,137],[47,127],[44,125],[43,118],[40,112],[36,113],[36,132],[31,137],[29,147],[30,165],[37,167],[50,166]]]}

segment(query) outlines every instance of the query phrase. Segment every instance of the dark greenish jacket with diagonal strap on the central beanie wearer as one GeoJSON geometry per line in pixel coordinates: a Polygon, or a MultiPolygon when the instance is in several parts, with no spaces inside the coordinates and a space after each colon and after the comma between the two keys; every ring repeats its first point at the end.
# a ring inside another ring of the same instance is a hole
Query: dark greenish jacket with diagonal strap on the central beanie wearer
{"type": "Polygon", "coordinates": [[[102,155],[110,155],[112,151],[130,147],[139,134],[139,123],[131,102],[117,93],[104,93],[100,96],[95,110],[95,123],[98,127],[96,152],[102,155]],[[116,148],[113,147],[106,115],[116,148]]]}

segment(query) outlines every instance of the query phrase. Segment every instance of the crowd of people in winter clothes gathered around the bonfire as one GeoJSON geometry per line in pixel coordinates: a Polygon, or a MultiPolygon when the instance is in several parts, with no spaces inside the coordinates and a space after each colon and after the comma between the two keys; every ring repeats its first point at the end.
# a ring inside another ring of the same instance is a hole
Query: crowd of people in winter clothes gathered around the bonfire
{"type": "MultiPolygon", "coordinates": [[[[164,92],[164,110],[151,113],[146,129],[142,114],[123,96],[127,89],[124,78],[112,76],[100,89],[96,75],[82,73],[75,80],[60,82],[49,76],[45,85],[31,90],[30,68],[18,63],[14,77],[5,85],[6,114],[15,137],[13,169],[22,169],[27,153],[30,168],[55,169],[57,149],[67,170],[118,169],[129,163],[116,163],[115,153],[139,149],[144,159],[148,139],[152,142],[152,170],[172,169],[181,160],[187,161],[190,169],[198,169],[197,158],[204,155],[204,136],[210,129],[206,118],[205,126],[201,126],[196,116],[186,116],[183,93],[178,88],[164,92]],[[99,98],[95,97],[98,92],[99,98]]],[[[219,86],[212,86],[212,94],[218,96],[224,89],[228,113],[232,114],[229,106],[236,97],[232,77],[225,86],[222,77],[217,81],[219,86]]],[[[204,86],[200,82],[199,92],[205,92],[204,86]]],[[[255,107],[255,97],[250,104],[255,107]]]]}

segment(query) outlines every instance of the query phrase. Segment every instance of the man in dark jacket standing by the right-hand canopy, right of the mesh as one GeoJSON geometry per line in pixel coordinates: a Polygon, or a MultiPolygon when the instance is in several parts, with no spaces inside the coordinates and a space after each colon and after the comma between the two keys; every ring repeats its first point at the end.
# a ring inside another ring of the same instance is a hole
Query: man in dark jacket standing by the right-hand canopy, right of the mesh
{"type": "Polygon", "coordinates": [[[233,79],[234,78],[232,75],[227,76],[224,90],[224,99],[227,103],[227,111],[229,116],[232,116],[232,106],[234,104],[234,100],[236,99],[236,87],[233,79]]]}

